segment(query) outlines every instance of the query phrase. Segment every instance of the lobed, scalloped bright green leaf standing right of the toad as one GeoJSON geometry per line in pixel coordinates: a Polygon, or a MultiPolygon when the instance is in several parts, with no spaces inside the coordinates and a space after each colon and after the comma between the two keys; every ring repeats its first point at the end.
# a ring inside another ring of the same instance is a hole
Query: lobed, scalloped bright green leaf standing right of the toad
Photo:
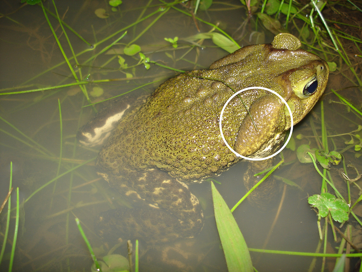
{"type": "Polygon", "coordinates": [[[308,197],[308,203],[318,209],[318,215],[326,217],[331,213],[333,220],[342,223],[348,220],[348,205],[342,199],[336,198],[333,194],[324,192],[308,197]]]}

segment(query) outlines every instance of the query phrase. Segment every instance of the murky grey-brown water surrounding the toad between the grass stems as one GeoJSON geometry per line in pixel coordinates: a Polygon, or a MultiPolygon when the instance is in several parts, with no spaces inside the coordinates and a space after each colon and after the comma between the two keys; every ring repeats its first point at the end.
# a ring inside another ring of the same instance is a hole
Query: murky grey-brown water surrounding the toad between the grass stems
{"type": "MultiPolygon", "coordinates": [[[[216,48],[210,40],[190,42],[183,39],[198,34],[191,16],[186,16],[174,9],[166,9],[164,13],[159,12],[160,3],[155,1],[148,4],[148,7],[146,7],[146,2],[143,4],[138,2],[136,7],[132,6],[133,3],[133,1],[124,1],[121,9],[116,12],[112,12],[105,2],[63,1],[56,3],[59,16],[64,22],[73,27],[89,44],[96,45],[95,50],[88,51],[91,48],[88,44],[66,30],[74,52],[76,54],[83,52],[77,56],[80,65],[77,65],[75,72],[79,72],[79,67],[81,71],[81,75],[78,73],[77,76],[82,79],[88,78],[89,84],[85,86],[88,92],[97,90],[95,87],[102,88],[104,91],[99,98],[91,97],[92,102],[119,95],[156,80],[162,82],[177,73],[155,64],[151,64],[150,69],[146,70],[143,64],[137,65],[138,54],[135,56],[122,55],[128,69],[120,70],[120,65],[124,67],[124,64],[117,53],[125,44],[136,43],[141,46],[142,52],[151,61],[185,71],[205,69],[213,61],[227,54],[226,51],[216,48]],[[95,11],[100,8],[108,9],[108,18],[101,19],[95,15],[95,11]],[[124,38],[112,47],[114,51],[107,48],[124,33],[123,28],[148,15],[150,15],[148,19],[127,29],[124,38]],[[156,19],[157,16],[159,19],[156,19]],[[102,42],[103,39],[117,31],[120,32],[102,42]],[[143,31],[145,32],[143,33],[143,31]],[[175,36],[179,37],[176,50],[164,40],[165,37],[173,38],[175,36]],[[96,57],[96,54],[103,49],[107,53],[96,57]],[[133,78],[126,79],[126,73],[132,74],[133,78]],[[99,82],[108,79],[117,79],[117,81],[99,82]]],[[[74,83],[67,64],[58,65],[64,58],[41,8],[25,6],[12,13],[18,8],[18,4],[13,7],[7,6],[5,3],[0,5],[2,5],[2,12],[9,14],[7,18],[0,19],[1,88],[21,86],[20,89],[10,90],[19,91],[74,83]]],[[[54,7],[50,2],[45,2],[44,5],[54,12],[54,7]]],[[[176,7],[188,11],[180,5],[176,7]]],[[[220,27],[232,34],[240,45],[247,45],[249,44],[248,39],[242,40],[241,37],[248,37],[246,31],[252,31],[251,28],[255,22],[251,19],[247,23],[247,27],[239,28],[244,26],[243,22],[246,20],[242,18],[242,15],[245,15],[245,8],[241,8],[238,1],[230,2],[230,4],[213,4],[209,11],[199,11],[197,14],[199,18],[207,22],[213,24],[219,22],[220,27]],[[248,29],[249,27],[250,29],[248,29]]],[[[51,15],[48,14],[48,16],[66,55],[71,57],[71,50],[61,28],[51,15]]],[[[212,28],[200,21],[198,21],[198,27],[201,32],[208,32],[212,28]]],[[[267,33],[266,30],[265,33],[267,33]]],[[[268,34],[267,36],[265,42],[270,42],[273,35],[268,34]]],[[[322,57],[325,58],[325,56],[322,57]]],[[[329,60],[332,58],[330,57],[329,60]]],[[[72,67],[75,67],[74,60],[71,60],[70,63],[72,67]]],[[[344,71],[344,75],[351,78],[349,73],[348,69],[344,71]]],[[[147,85],[136,91],[134,95],[151,92],[160,82],[147,85]]],[[[353,112],[347,112],[346,107],[341,105],[329,91],[330,88],[339,89],[353,85],[351,82],[356,84],[354,80],[346,80],[340,74],[331,73],[330,85],[322,98],[323,109],[320,104],[317,104],[311,114],[296,127],[294,140],[297,146],[309,144],[311,148],[320,148],[313,132],[316,131],[318,135],[321,135],[321,111],[323,110],[329,136],[329,149],[343,151],[345,161],[353,164],[361,172],[361,162],[357,157],[360,151],[355,152],[353,147],[350,147],[353,144],[348,143],[351,137],[353,139],[355,137],[346,134],[357,128],[357,125],[361,123],[360,117],[353,112]],[[344,135],[332,137],[339,134],[344,135]],[[297,135],[302,136],[297,139],[297,135]]],[[[360,105],[362,101],[360,90],[356,88],[348,89],[342,94],[351,99],[354,105],[360,105]]],[[[89,270],[92,260],[75,225],[74,217],[80,219],[89,241],[96,249],[96,254],[103,256],[118,241],[115,241],[114,244],[104,244],[94,232],[95,219],[101,211],[114,209],[120,205],[129,205],[126,200],[110,189],[107,182],[96,175],[93,161],[58,178],[56,182],[51,182],[31,198],[28,197],[57,175],[97,156],[98,150],[81,147],[75,140],[78,127],[92,117],[92,107],[82,108],[87,102],[77,86],[1,96],[0,102],[0,116],[8,122],[0,121],[2,129],[0,131],[0,143],[2,144],[0,150],[0,199],[4,199],[7,194],[10,162],[13,162],[13,186],[20,188],[20,197],[22,201],[26,200],[20,213],[20,232],[14,270],[89,270]],[[58,101],[61,105],[62,134],[60,134],[58,101]],[[62,158],[60,164],[59,154],[62,158]]],[[[352,134],[356,133],[359,132],[352,134]]],[[[264,207],[254,207],[245,201],[233,214],[250,248],[265,246],[266,249],[274,250],[314,252],[319,241],[317,217],[315,212],[310,209],[307,197],[320,192],[321,178],[311,164],[298,162],[295,151],[286,150],[284,157],[286,164],[281,166],[275,175],[292,180],[300,188],[288,185],[279,218],[268,243],[264,245],[275,220],[282,193],[275,195],[275,200],[264,207]]],[[[347,187],[338,174],[339,168],[341,166],[331,167],[330,179],[335,182],[335,186],[346,198],[347,187]]],[[[217,185],[217,188],[229,207],[234,206],[245,193],[242,178],[240,178],[245,169],[246,163],[239,163],[218,179],[221,184],[217,185]]],[[[356,174],[352,168],[348,168],[347,171],[351,178],[355,177],[356,174]]],[[[284,184],[280,186],[282,191],[284,184]]],[[[162,260],[162,262],[166,263],[167,267],[172,267],[171,270],[174,269],[172,266],[174,264],[171,265],[169,262],[174,256],[178,256],[178,265],[184,270],[226,270],[213,218],[210,184],[193,184],[190,187],[198,198],[202,199],[206,215],[206,224],[202,233],[196,239],[184,242],[185,244],[180,242],[173,245],[172,248],[148,249],[148,255],[141,255],[142,271],[157,268],[159,270],[160,264],[156,261],[162,252],[169,253],[169,259],[162,260]],[[187,246],[194,249],[186,249],[187,246]],[[190,254],[189,250],[194,250],[194,252],[191,251],[193,254],[190,254]],[[151,257],[153,260],[149,261],[147,258],[151,257]]],[[[358,197],[359,191],[351,186],[351,192],[353,203],[358,197]]],[[[13,207],[14,198],[13,196],[13,207]]],[[[357,216],[362,216],[362,212],[359,211],[360,208],[356,207],[355,213],[357,216]]],[[[3,211],[0,217],[0,237],[2,237],[0,241],[3,240],[2,234],[5,231],[5,214],[3,211]]],[[[357,224],[354,224],[355,220],[350,221],[353,228],[358,228],[357,224]]],[[[322,220],[322,222],[324,221],[322,220]]],[[[13,237],[13,229],[12,223],[10,240],[13,237]]],[[[331,235],[329,238],[328,252],[333,252],[333,247],[338,246],[339,243],[334,243],[331,235]]],[[[358,237],[353,237],[353,239],[358,239],[358,237]]],[[[10,242],[7,244],[6,253],[10,252],[10,244],[10,242]]],[[[142,241],[141,250],[142,253],[147,250],[142,245],[142,241]]],[[[115,253],[126,256],[126,244],[122,244],[115,250],[115,253]]],[[[258,271],[306,271],[312,262],[310,257],[254,252],[251,253],[251,256],[258,271]]],[[[320,269],[321,261],[321,258],[317,259],[315,271],[320,269]]],[[[2,269],[3,267],[8,269],[7,263],[8,258],[4,258],[1,264],[2,269]]],[[[329,270],[334,266],[334,261],[328,261],[327,265],[329,265],[329,270]]]]}

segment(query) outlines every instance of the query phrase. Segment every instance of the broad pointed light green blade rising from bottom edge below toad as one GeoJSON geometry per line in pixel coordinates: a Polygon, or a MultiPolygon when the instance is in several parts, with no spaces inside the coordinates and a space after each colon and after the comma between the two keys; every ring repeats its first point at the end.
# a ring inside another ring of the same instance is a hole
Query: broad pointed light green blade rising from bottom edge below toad
{"type": "Polygon", "coordinates": [[[229,272],[252,272],[250,253],[230,209],[211,182],[217,229],[229,272]]]}

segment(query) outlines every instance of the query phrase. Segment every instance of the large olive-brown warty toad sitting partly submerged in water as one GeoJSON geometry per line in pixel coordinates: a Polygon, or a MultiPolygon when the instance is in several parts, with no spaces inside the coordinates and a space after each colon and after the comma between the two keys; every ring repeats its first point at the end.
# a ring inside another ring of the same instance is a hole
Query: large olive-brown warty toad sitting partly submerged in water
{"type": "MultiPolygon", "coordinates": [[[[299,40],[290,34],[279,34],[272,44],[243,47],[214,62],[209,70],[166,81],[119,122],[99,153],[98,173],[119,192],[144,202],[139,213],[149,209],[145,214],[156,210],[161,217],[167,213],[174,217],[169,229],[159,227],[161,219],[154,224],[150,219],[145,230],[134,235],[147,236],[146,229],[161,229],[163,238],[158,240],[169,241],[200,232],[202,210],[185,182],[219,175],[240,161],[226,147],[219,130],[221,109],[234,91],[252,86],[272,89],[290,105],[294,124],[304,118],[325,89],[328,65],[299,47],[299,40]],[[318,81],[317,90],[304,98],[301,89],[313,76],[318,81]],[[177,234],[173,228],[178,229],[177,234]]],[[[291,126],[285,104],[262,90],[249,90],[240,96],[258,129],[235,97],[223,114],[226,141],[243,156],[273,153],[291,126]]],[[[120,217],[124,217],[123,212],[120,217]]],[[[144,221],[135,219],[129,225],[144,221]]]]}

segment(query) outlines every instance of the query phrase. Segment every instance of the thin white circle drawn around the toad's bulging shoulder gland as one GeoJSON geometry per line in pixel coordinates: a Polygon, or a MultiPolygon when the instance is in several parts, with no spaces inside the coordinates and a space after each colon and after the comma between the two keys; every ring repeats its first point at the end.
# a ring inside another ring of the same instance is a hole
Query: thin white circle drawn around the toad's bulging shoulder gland
{"type": "Polygon", "coordinates": [[[292,115],[292,110],[291,108],[289,107],[287,101],[280,95],[278,94],[277,92],[273,91],[273,90],[270,90],[268,88],[264,88],[264,87],[248,87],[248,88],[244,88],[240,91],[237,91],[235,94],[233,94],[229,99],[228,101],[226,101],[226,103],[224,104],[224,107],[222,108],[221,112],[220,112],[220,119],[219,119],[219,129],[220,129],[220,133],[221,133],[221,138],[223,139],[224,143],[226,144],[226,146],[228,147],[228,149],[230,149],[237,157],[241,157],[245,160],[249,160],[249,161],[263,161],[263,160],[267,160],[267,159],[270,159],[270,158],[273,158],[274,156],[277,156],[279,153],[281,153],[283,151],[283,149],[285,149],[285,147],[288,145],[291,137],[292,137],[292,133],[293,133],[293,115],[292,115]],[[264,157],[264,158],[248,158],[248,157],[245,157],[245,156],[242,156],[240,155],[239,153],[237,153],[235,150],[233,150],[229,144],[226,142],[225,140],[225,137],[224,137],[224,133],[222,132],[222,115],[224,113],[224,110],[227,106],[227,104],[229,104],[230,100],[233,99],[235,96],[237,96],[239,93],[242,93],[242,92],[245,92],[245,91],[248,91],[248,90],[253,90],[253,89],[261,89],[261,90],[265,90],[265,91],[268,91],[268,92],[271,92],[273,94],[275,94],[276,96],[278,96],[282,101],[283,103],[287,106],[287,109],[289,111],[289,115],[291,117],[291,127],[290,127],[290,132],[289,132],[289,136],[288,136],[288,139],[287,141],[285,142],[285,144],[283,145],[283,147],[278,150],[277,152],[273,153],[272,155],[269,155],[267,157],[264,157]]]}

